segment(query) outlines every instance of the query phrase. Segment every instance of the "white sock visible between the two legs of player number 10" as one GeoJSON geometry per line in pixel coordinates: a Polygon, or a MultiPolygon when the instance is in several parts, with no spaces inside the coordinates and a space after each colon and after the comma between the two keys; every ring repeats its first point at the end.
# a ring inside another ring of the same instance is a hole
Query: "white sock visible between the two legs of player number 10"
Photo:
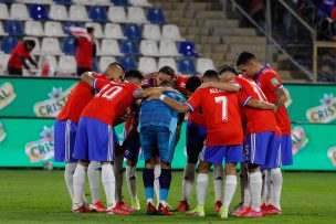
{"type": "Polygon", "coordinates": [[[92,196],[92,202],[96,203],[101,201],[101,162],[91,161],[87,168],[87,178],[90,184],[90,191],[92,196]]]}

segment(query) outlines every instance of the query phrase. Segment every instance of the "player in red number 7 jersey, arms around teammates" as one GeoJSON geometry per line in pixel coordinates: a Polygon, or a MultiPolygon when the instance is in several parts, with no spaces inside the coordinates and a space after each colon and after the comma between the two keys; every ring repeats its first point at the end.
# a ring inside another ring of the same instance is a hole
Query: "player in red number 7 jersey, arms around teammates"
{"type": "MultiPolygon", "coordinates": [[[[219,82],[219,76],[216,71],[207,71],[203,79],[204,83],[219,82]]],[[[232,89],[230,90],[239,90],[240,88],[235,85],[231,87],[232,89]]],[[[260,109],[274,109],[274,105],[250,99],[243,95],[238,98],[233,93],[211,87],[197,89],[186,104],[180,104],[164,95],[160,95],[159,98],[180,113],[193,113],[201,107],[206,118],[206,147],[201,153],[199,175],[197,178],[198,206],[187,214],[204,216],[203,206],[210,166],[211,163],[220,164],[225,158],[225,191],[219,216],[222,218],[228,217],[228,209],[237,186],[237,162],[244,161],[239,104],[254,106],[260,109]]]]}

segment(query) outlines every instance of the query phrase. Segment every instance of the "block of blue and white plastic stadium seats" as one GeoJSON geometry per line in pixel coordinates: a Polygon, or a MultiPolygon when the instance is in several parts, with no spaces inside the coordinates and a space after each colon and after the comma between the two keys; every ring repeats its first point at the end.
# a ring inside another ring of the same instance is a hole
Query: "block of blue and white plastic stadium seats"
{"type": "Polygon", "coordinates": [[[161,9],[148,0],[17,0],[0,1],[0,75],[19,41],[35,41],[32,51],[56,75],[76,72],[74,36],[70,26],[94,28],[97,58],[94,71],[103,72],[117,61],[125,71],[151,73],[169,65],[182,74],[213,68],[175,24],[165,24],[161,9]]]}

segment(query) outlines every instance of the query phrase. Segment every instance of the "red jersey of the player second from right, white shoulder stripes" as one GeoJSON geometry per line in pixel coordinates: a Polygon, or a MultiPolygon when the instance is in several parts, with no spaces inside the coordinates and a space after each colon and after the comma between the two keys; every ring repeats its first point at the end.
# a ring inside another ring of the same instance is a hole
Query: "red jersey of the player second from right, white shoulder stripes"
{"type": "MultiPolygon", "coordinates": [[[[232,81],[241,86],[241,92],[239,92],[238,95],[243,93],[251,99],[267,102],[266,96],[253,81],[244,77],[233,77],[232,81]]],[[[246,122],[246,134],[275,131],[276,121],[275,115],[272,110],[254,109],[252,107],[244,106],[243,116],[246,122]]]]}

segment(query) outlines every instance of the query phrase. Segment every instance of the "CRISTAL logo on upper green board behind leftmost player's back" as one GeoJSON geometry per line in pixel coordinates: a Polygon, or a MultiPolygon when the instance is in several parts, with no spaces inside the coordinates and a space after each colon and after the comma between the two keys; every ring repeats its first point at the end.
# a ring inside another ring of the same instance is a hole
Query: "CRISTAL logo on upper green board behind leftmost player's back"
{"type": "Polygon", "coordinates": [[[34,105],[34,113],[38,117],[56,117],[66,103],[71,89],[75,85],[63,92],[62,87],[53,87],[48,94],[50,99],[39,102],[34,105]]]}

